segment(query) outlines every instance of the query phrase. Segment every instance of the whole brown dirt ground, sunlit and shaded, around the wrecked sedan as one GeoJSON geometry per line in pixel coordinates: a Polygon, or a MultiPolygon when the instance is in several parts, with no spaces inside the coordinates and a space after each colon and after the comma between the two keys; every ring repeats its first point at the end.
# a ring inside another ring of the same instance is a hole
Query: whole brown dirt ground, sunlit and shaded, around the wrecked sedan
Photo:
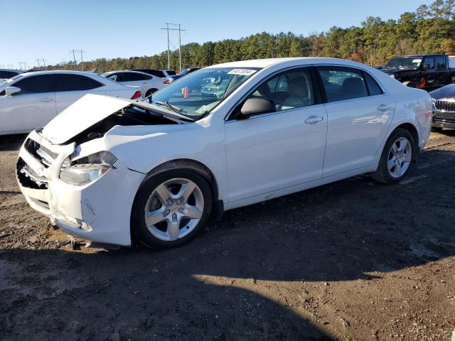
{"type": "Polygon", "coordinates": [[[0,138],[0,340],[450,340],[455,131],[410,176],[226,212],[168,251],[73,250],[26,205],[0,138]]]}

